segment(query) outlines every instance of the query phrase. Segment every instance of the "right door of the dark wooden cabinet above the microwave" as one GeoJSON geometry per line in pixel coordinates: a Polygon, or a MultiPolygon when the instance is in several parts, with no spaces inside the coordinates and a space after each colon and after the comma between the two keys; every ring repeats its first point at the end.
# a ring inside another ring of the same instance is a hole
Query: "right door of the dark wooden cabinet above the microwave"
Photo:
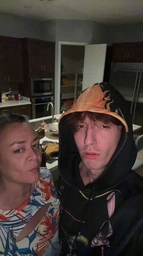
{"type": "Polygon", "coordinates": [[[55,43],[42,42],[41,45],[41,65],[43,77],[55,76],[55,43]]]}

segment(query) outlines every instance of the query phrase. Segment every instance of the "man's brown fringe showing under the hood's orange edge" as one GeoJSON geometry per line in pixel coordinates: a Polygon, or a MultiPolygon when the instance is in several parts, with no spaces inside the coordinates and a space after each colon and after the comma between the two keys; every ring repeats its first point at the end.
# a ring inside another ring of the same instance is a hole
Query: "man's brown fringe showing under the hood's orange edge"
{"type": "Polygon", "coordinates": [[[96,112],[89,112],[89,111],[70,113],[67,116],[65,116],[64,122],[68,124],[68,126],[70,126],[73,133],[75,133],[78,131],[76,124],[79,121],[81,122],[84,121],[84,118],[86,116],[88,116],[88,118],[90,118],[91,121],[98,120],[106,124],[113,123],[113,124],[116,124],[116,126],[122,126],[121,121],[118,118],[115,118],[114,116],[107,115],[104,113],[96,113],[96,112]]]}

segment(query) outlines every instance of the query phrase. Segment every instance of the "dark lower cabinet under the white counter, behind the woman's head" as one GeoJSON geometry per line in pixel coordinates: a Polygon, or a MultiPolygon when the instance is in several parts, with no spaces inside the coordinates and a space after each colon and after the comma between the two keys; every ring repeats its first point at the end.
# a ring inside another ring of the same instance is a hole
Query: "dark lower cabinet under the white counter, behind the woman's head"
{"type": "Polygon", "coordinates": [[[20,115],[26,115],[28,116],[30,119],[32,119],[32,109],[31,109],[31,105],[18,105],[18,106],[13,106],[13,107],[1,107],[0,108],[0,113],[2,112],[13,112],[13,113],[17,113],[20,115]]]}

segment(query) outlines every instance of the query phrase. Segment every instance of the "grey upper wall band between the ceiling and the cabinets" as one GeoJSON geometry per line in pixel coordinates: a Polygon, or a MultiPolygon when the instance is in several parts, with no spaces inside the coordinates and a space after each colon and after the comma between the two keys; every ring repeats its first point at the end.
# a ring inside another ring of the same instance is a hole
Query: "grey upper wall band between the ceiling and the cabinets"
{"type": "Polygon", "coordinates": [[[143,23],[105,26],[95,21],[50,20],[39,22],[20,16],[0,14],[0,35],[31,37],[49,41],[120,43],[143,41],[143,23]]]}

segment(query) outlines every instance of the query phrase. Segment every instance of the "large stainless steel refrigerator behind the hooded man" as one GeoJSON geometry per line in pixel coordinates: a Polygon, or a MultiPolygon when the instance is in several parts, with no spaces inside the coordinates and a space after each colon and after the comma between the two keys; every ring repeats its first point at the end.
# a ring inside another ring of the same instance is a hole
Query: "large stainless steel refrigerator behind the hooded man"
{"type": "Polygon", "coordinates": [[[143,126],[143,63],[111,63],[109,82],[127,100],[132,123],[143,126]]]}

